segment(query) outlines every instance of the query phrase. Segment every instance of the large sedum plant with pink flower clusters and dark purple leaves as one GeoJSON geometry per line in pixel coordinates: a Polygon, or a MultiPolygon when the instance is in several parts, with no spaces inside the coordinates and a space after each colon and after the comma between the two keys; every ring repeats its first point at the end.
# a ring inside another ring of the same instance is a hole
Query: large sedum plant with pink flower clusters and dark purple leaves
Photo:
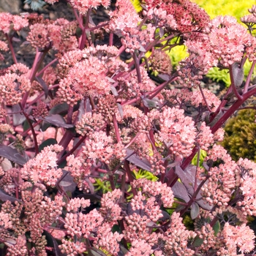
{"type": "Polygon", "coordinates": [[[219,142],[256,94],[256,6],[247,31],[188,0],[146,0],[140,15],[117,0],[97,24],[110,1],[67,2],[75,20],[0,13],[14,62],[0,76],[1,254],[254,255],[256,165],[219,142]],[[12,45],[23,29],[31,67],[12,45]],[[177,45],[189,56],[172,70],[177,45]],[[212,67],[230,75],[222,100],[200,86],[212,67]]]}

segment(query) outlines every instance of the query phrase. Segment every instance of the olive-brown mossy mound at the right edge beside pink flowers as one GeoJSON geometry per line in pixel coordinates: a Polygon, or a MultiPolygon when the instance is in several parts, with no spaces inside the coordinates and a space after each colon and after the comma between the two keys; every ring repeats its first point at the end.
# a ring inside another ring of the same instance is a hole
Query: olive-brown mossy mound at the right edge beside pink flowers
{"type": "Polygon", "coordinates": [[[225,139],[222,142],[234,160],[240,157],[256,162],[256,110],[240,110],[230,118],[225,126],[225,139]]]}

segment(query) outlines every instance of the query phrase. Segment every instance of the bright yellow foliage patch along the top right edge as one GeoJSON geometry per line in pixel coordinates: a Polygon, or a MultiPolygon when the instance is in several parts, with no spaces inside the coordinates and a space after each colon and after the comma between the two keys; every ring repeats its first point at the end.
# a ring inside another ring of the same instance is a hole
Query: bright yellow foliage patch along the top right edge
{"type": "Polygon", "coordinates": [[[255,0],[192,0],[208,13],[211,18],[217,15],[232,15],[238,20],[244,15],[249,14],[248,9],[252,8],[252,4],[256,4],[255,0]]]}

